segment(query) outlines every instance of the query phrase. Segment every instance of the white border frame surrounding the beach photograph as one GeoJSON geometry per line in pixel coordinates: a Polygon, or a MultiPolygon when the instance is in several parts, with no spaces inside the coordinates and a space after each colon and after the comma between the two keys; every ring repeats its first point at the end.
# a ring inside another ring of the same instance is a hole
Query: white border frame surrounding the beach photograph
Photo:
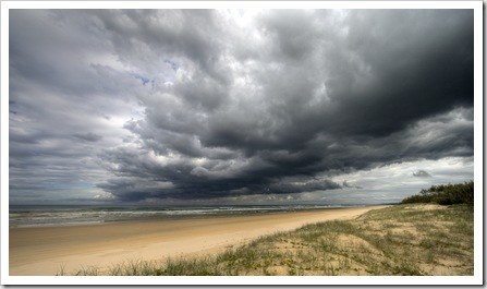
{"type": "Polygon", "coordinates": [[[482,1],[2,1],[1,2],[1,284],[2,285],[483,285],[483,194],[475,202],[474,276],[414,277],[72,277],[9,276],[9,10],[10,9],[473,9],[474,10],[474,179],[475,191],[483,192],[483,2],[482,1]]]}

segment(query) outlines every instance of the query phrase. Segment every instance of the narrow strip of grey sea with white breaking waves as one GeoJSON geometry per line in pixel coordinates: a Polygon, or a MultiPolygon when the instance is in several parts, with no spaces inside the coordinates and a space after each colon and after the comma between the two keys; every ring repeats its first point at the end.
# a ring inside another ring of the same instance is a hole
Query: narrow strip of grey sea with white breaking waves
{"type": "Polygon", "coordinates": [[[10,205],[9,227],[93,225],[109,221],[185,219],[305,212],[349,206],[92,206],[92,205],[10,205]]]}

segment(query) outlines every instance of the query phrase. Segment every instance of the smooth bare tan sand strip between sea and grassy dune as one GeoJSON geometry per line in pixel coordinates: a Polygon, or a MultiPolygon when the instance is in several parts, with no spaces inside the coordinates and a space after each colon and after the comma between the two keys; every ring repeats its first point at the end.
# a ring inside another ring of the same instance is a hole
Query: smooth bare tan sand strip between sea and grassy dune
{"type": "Polygon", "coordinates": [[[70,274],[90,265],[217,253],[256,237],[306,224],[346,219],[385,206],[336,208],[259,216],[120,221],[70,227],[9,229],[11,276],[70,274]]]}

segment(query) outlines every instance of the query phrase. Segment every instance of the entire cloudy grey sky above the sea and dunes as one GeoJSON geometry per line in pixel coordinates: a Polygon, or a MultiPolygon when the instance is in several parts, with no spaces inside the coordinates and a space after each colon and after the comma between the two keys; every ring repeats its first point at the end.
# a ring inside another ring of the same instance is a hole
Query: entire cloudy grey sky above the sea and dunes
{"type": "Polygon", "coordinates": [[[11,203],[378,204],[474,178],[473,10],[10,10],[11,203]]]}

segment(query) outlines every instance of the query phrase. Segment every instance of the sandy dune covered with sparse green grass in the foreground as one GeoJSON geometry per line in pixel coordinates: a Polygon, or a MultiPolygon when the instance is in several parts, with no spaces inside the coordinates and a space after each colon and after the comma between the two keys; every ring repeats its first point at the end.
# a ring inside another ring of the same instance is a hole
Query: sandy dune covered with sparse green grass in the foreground
{"type": "Polygon", "coordinates": [[[74,275],[473,275],[473,220],[467,205],[394,205],[265,236],[216,255],[135,260],[74,275]]]}

